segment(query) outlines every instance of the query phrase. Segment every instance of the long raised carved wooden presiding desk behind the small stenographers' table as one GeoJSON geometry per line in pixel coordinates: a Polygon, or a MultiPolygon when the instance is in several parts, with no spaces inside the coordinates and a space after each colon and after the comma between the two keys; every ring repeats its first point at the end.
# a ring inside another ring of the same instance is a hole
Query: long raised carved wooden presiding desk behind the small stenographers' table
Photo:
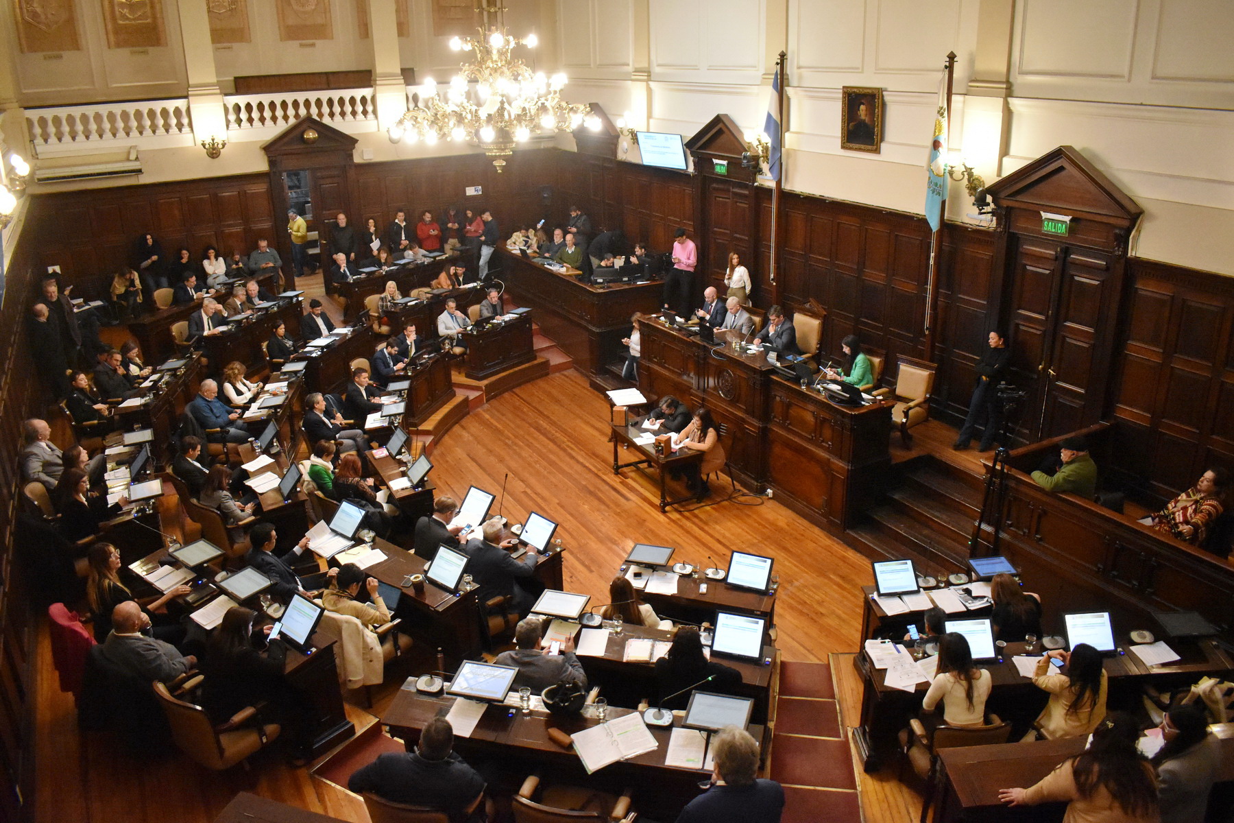
{"type": "Polygon", "coordinates": [[[743,484],[771,486],[791,508],[837,532],[881,492],[892,403],[834,403],[782,376],[765,352],[735,348],[735,332],[719,329],[710,344],[645,315],[639,329],[639,389],[710,408],[728,427],[722,445],[743,484]]]}

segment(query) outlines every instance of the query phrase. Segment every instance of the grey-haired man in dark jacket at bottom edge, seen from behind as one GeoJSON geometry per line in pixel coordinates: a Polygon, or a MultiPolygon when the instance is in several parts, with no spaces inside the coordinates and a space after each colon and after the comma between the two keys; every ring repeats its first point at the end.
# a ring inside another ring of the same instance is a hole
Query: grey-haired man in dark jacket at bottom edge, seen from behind
{"type": "Polygon", "coordinates": [[[784,788],[755,777],[759,744],[745,729],[729,726],[711,738],[714,765],[711,787],[686,803],[677,823],[780,823],[784,788]]]}

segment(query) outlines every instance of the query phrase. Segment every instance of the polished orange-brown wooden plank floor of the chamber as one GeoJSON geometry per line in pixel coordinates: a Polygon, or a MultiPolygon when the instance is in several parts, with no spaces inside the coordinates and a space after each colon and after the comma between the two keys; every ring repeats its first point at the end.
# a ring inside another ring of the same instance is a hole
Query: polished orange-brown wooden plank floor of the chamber
{"type": "MultiPolygon", "coordinates": [[[[770,554],[780,575],[777,644],[786,660],[828,660],[858,648],[859,586],[872,582],[869,561],[787,508],[759,497],[726,500],[727,479],[712,484],[710,505],[661,515],[659,492],[636,469],[612,473],[606,434],[607,403],[576,371],[524,385],[474,410],[445,434],[433,454],[438,494],[457,497],[468,485],[495,494],[506,482],[502,513],[518,522],[536,510],[560,522],[565,586],[606,602],[607,584],[634,542],[677,548],[679,558],[723,563],[731,549],[770,554]]],[[[710,564],[708,564],[710,565],[710,564]]],[[[858,716],[859,687],[850,656],[832,659],[842,718],[858,716]]],[[[38,823],[209,823],[238,791],[280,800],[343,819],[365,822],[354,796],[291,769],[275,755],[258,755],[252,771],[218,775],[186,758],[137,758],[112,750],[104,738],[83,740],[72,697],[58,691],[46,631],[36,672],[38,823]]],[[[399,684],[374,701],[380,713],[399,684]]],[[[373,722],[349,705],[358,727],[373,722]]],[[[916,814],[914,796],[890,777],[863,776],[866,823],[902,823],[916,814]]]]}

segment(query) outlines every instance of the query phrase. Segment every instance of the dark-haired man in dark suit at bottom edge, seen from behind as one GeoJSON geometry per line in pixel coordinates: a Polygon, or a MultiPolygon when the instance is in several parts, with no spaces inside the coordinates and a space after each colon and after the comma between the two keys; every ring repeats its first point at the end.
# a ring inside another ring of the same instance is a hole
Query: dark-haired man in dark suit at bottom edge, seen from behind
{"type": "Polygon", "coordinates": [[[444,717],[424,724],[415,751],[390,751],[354,772],[347,787],[391,803],[441,809],[450,821],[484,812],[484,777],[452,751],[454,729],[444,717]]]}

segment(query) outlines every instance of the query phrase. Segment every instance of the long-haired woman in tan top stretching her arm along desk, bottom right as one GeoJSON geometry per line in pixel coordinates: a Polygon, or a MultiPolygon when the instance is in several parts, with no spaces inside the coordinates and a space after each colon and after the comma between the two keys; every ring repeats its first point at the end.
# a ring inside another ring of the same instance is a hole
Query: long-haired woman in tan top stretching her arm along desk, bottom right
{"type": "Polygon", "coordinates": [[[1064,819],[1076,823],[1157,823],[1156,780],[1135,745],[1138,738],[1139,724],[1130,714],[1111,714],[1096,727],[1087,749],[1035,786],[998,790],[998,798],[1008,806],[1066,802],[1064,819]]]}

